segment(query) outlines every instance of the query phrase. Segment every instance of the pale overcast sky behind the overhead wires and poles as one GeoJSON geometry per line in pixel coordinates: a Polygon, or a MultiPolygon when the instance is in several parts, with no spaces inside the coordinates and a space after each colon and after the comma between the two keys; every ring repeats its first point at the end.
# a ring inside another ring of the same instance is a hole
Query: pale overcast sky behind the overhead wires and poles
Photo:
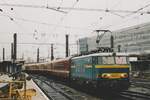
{"type": "MultiPolygon", "coordinates": [[[[10,57],[10,43],[13,33],[17,33],[18,43],[54,43],[55,56],[64,57],[65,34],[69,34],[70,53],[76,53],[77,39],[96,35],[93,30],[117,30],[150,22],[150,14],[142,13],[150,11],[149,5],[150,0],[0,0],[0,53],[6,48],[6,57],[10,57]],[[60,12],[43,6],[123,12],[59,9],[63,11],[60,12]],[[141,13],[124,13],[139,9],[141,13]]],[[[36,58],[38,47],[41,57],[48,57],[49,45],[34,44],[18,44],[18,57],[36,58]]]]}

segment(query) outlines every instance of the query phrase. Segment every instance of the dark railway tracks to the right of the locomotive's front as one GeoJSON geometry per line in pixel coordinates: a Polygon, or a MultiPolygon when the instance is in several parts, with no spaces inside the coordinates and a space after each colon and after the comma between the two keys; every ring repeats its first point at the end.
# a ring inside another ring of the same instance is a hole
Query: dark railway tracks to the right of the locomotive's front
{"type": "Polygon", "coordinates": [[[121,92],[120,96],[129,100],[150,100],[150,81],[132,79],[131,88],[128,91],[121,92]]]}

